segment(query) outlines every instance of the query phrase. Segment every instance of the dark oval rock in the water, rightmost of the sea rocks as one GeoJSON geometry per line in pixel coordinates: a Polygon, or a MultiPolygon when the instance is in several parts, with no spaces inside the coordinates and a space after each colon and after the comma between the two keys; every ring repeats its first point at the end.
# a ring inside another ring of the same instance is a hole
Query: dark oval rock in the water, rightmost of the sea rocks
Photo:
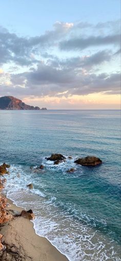
{"type": "Polygon", "coordinates": [[[96,166],[98,164],[102,163],[102,160],[99,158],[96,158],[95,156],[87,156],[86,158],[80,158],[74,161],[74,163],[77,163],[79,165],[83,166],[96,166]]]}

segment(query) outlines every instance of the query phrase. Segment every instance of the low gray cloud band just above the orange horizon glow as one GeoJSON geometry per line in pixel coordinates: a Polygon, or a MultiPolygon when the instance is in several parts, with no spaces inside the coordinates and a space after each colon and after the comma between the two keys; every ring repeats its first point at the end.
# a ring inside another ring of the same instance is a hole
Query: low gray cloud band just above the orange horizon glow
{"type": "Polygon", "coordinates": [[[27,96],[62,96],[87,95],[107,92],[115,94],[120,90],[120,74],[85,73],[83,69],[56,69],[46,64],[39,64],[37,69],[22,74],[11,75],[11,86],[1,85],[1,93],[27,96]],[[62,93],[62,94],[60,94],[62,93]]]}

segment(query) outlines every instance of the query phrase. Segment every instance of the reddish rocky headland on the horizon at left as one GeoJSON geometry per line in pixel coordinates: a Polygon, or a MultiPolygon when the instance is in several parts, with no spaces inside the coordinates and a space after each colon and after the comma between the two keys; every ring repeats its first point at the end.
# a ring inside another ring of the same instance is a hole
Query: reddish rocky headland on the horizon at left
{"type": "Polygon", "coordinates": [[[13,96],[0,97],[0,110],[47,110],[38,106],[30,106],[13,96]]]}

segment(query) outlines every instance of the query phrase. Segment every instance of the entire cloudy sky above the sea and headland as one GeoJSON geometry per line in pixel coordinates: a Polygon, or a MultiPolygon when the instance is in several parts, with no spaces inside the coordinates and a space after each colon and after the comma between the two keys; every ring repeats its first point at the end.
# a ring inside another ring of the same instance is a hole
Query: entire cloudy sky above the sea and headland
{"type": "Polygon", "coordinates": [[[48,109],[120,108],[120,0],[4,0],[0,97],[48,109]]]}

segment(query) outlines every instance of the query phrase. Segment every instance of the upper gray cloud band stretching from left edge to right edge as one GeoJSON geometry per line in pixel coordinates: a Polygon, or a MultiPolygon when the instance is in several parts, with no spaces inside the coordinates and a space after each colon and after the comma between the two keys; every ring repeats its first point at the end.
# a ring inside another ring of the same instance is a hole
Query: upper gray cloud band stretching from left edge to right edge
{"type": "Polygon", "coordinates": [[[38,62],[39,58],[35,58],[36,55],[41,54],[44,58],[49,58],[49,56],[52,58],[49,53],[50,49],[54,50],[58,47],[60,50],[69,51],[118,45],[120,41],[118,28],[119,21],[109,21],[97,25],[83,22],[76,24],[56,22],[53,25],[53,30],[48,30],[45,34],[19,37],[17,34],[10,33],[7,29],[0,27],[0,64],[13,61],[21,66],[28,66],[38,62]],[[89,35],[89,28],[92,30],[92,35],[89,35]],[[110,34],[105,32],[102,35],[100,32],[100,35],[97,36],[100,28],[111,28],[110,34]],[[67,40],[67,38],[69,39],[67,40]]]}

